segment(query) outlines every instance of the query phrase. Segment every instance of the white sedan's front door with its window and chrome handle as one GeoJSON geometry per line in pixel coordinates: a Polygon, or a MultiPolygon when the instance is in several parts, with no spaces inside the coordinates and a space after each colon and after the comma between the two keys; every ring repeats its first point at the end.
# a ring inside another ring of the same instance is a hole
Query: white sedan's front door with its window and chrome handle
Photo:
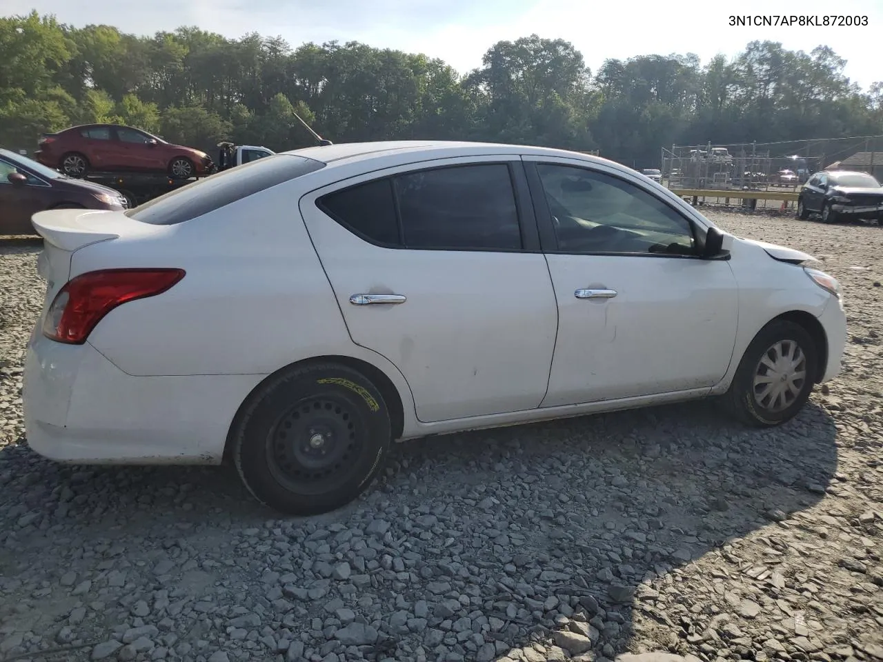
{"type": "Polygon", "coordinates": [[[695,257],[691,222],[637,179],[566,159],[525,162],[560,319],[542,405],[720,381],[736,339],[728,261],[695,257]]]}

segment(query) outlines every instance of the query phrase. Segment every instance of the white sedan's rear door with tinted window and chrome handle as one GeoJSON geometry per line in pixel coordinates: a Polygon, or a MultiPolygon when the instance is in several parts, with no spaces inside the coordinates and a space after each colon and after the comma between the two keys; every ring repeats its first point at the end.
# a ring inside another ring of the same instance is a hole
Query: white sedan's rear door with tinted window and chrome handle
{"type": "Polygon", "coordinates": [[[353,342],[403,373],[425,422],[530,410],[557,309],[517,157],[353,177],[300,200],[353,342]]]}

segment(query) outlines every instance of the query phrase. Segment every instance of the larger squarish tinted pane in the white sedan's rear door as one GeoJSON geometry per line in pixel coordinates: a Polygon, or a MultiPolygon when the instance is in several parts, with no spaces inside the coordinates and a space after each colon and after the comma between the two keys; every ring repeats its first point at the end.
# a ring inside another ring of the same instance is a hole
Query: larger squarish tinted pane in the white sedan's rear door
{"type": "Polygon", "coordinates": [[[395,183],[408,248],[522,247],[509,166],[423,170],[395,183]]]}

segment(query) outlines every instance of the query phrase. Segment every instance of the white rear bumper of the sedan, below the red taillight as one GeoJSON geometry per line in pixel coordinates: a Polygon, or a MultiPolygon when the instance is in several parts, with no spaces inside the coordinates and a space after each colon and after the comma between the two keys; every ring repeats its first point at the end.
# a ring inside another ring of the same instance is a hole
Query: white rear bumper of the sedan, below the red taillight
{"type": "Polygon", "coordinates": [[[88,343],[28,344],[27,443],[82,464],[220,463],[230,422],[260,375],[133,377],[88,343]]]}

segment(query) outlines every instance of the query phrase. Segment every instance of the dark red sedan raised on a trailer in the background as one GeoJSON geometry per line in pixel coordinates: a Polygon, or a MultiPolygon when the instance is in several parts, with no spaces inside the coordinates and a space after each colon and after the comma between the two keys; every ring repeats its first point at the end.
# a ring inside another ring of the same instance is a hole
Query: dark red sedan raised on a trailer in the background
{"type": "Polygon", "coordinates": [[[172,145],[140,129],[117,124],[84,124],[57,133],[44,133],[38,162],[68,177],[90,171],[129,170],[168,173],[175,179],[208,175],[211,157],[192,147],[172,145]]]}

